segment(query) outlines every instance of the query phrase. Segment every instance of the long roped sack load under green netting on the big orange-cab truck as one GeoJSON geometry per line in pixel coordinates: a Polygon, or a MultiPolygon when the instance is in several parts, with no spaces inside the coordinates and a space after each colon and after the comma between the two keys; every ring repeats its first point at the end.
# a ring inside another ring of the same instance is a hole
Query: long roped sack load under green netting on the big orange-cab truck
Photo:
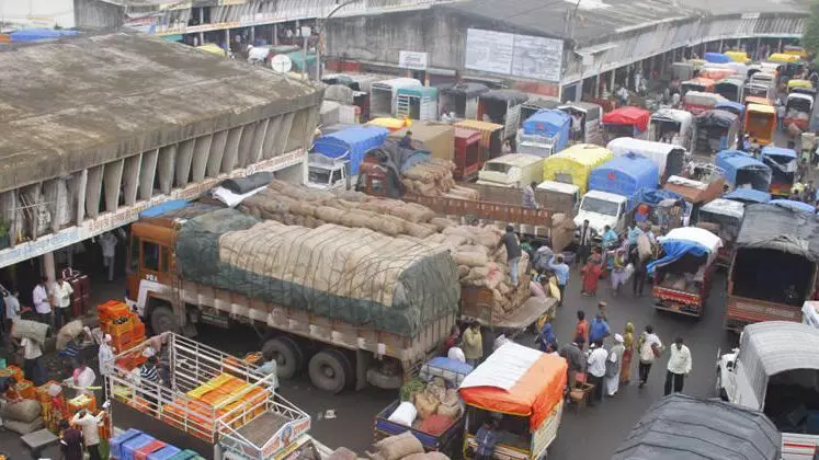
{"type": "Polygon", "coordinates": [[[399,335],[457,310],[445,248],[364,228],[309,229],[223,209],[184,222],[175,253],[184,279],[399,335]]]}

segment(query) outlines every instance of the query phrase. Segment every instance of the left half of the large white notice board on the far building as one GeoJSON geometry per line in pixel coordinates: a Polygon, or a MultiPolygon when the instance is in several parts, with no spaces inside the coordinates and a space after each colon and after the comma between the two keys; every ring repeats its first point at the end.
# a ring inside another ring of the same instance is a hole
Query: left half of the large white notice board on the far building
{"type": "Polygon", "coordinates": [[[512,73],[514,35],[469,28],[466,31],[465,68],[491,73],[512,73]]]}

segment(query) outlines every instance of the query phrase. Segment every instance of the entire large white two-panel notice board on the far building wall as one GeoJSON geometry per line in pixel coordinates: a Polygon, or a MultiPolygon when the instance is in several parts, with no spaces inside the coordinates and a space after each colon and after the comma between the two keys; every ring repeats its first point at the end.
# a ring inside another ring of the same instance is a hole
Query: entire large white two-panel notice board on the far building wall
{"type": "Polygon", "coordinates": [[[469,28],[464,67],[490,73],[559,82],[564,41],[469,28]]]}

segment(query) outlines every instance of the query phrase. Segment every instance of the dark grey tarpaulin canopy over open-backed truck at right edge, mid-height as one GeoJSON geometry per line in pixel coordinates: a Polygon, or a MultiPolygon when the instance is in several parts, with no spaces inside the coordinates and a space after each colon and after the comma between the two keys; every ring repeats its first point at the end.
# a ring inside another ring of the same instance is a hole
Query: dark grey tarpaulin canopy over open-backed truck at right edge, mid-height
{"type": "Polygon", "coordinates": [[[817,216],[771,203],[749,205],[737,248],[772,249],[819,261],[817,216]]]}

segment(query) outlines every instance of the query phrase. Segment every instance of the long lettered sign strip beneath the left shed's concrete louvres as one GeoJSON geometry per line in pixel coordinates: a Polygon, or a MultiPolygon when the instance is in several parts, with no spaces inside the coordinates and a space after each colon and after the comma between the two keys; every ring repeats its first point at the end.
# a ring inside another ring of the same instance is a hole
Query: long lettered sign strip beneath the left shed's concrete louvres
{"type": "Polygon", "coordinates": [[[34,241],[16,244],[14,248],[0,251],[0,267],[13,265],[25,260],[37,257],[43,254],[65,248],[89,238],[105,233],[106,231],[126,226],[139,218],[139,212],[172,199],[195,199],[205,192],[218,185],[221,181],[232,177],[243,177],[260,171],[278,171],[307,160],[303,149],[296,149],[288,153],[273,157],[253,163],[244,169],[235,170],[230,173],[209,177],[184,188],[177,188],[168,195],[158,195],[150,199],[141,200],[133,206],[122,207],[113,212],[105,212],[94,219],[84,220],[80,226],[69,227],[56,233],[43,235],[34,241]]]}

